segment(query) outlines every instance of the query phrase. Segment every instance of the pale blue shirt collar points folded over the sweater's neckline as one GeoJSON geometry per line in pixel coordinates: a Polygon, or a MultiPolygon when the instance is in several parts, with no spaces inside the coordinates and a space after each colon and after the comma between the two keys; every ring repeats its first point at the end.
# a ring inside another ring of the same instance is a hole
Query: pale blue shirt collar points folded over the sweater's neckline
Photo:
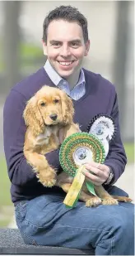
{"type": "MultiPolygon", "coordinates": [[[[52,80],[52,82],[54,83],[54,85],[58,86],[58,84],[63,80],[63,78],[58,75],[58,73],[54,70],[54,68],[52,67],[52,65],[50,65],[49,60],[47,60],[45,62],[44,65],[44,70],[46,71],[46,73],[49,75],[50,80],[52,80]]],[[[81,69],[80,72],[80,76],[79,76],[79,80],[77,82],[77,85],[80,85],[81,83],[85,83],[85,75],[83,70],[81,69]]],[[[76,85],[76,86],[77,86],[76,85]]]]}

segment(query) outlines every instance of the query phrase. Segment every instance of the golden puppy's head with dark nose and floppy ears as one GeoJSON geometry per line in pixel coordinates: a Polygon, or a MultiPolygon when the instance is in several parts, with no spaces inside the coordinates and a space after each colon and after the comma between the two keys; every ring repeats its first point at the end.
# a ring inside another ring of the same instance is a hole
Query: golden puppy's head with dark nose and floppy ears
{"type": "Polygon", "coordinates": [[[26,104],[23,117],[35,135],[44,133],[45,126],[72,123],[72,99],[61,89],[44,85],[26,104]]]}

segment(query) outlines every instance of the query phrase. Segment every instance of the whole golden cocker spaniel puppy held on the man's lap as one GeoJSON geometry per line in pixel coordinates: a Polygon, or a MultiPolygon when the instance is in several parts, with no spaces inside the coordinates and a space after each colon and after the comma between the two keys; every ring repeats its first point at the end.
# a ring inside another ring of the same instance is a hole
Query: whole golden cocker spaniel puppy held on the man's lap
{"type": "MultiPolygon", "coordinates": [[[[60,186],[67,193],[72,177],[62,172],[57,176],[56,170],[49,166],[44,154],[58,149],[59,131],[63,129],[63,139],[72,133],[80,131],[73,123],[74,114],[72,99],[61,89],[44,85],[26,104],[23,117],[26,122],[26,138],[24,155],[36,176],[44,186],[60,186]],[[56,116],[57,115],[57,116],[56,116]]],[[[63,140],[62,140],[63,141],[63,140]]],[[[99,197],[92,196],[86,186],[82,186],[79,199],[86,202],[86,206],[116,205],[118,200],[131,201],[124,196],[110,196],[103,186],[95,186],[99,197]]]]}

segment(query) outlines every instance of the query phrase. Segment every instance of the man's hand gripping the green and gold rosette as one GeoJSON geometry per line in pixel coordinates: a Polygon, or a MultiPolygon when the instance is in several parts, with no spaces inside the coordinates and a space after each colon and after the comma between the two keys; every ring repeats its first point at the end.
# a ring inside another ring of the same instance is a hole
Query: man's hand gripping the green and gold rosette
{"type": "Polygon", "coordinates": [[[91,181],[96,186],[102,185],[109,177],[110,169],[105,164],[88,162],[84,167],[86,169],[82,172],[86,176],[86,181],[91,181]]]}

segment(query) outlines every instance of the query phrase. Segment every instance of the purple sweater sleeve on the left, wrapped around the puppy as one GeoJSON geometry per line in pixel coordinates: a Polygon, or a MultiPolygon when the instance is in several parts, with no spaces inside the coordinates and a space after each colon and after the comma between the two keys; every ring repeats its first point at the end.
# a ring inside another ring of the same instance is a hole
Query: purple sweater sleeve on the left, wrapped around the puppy
{"type": "MultiPolygon", "coordinates": [[[[12,184],[17,186],[38,181],[23,153],[26,124],[22,114],[25,107],[25,97],[12,89],[3,109],[3,139],[8,176],[12,184]]],[[[58,150],[46,154],[46,158],[50,165],[59,167],[58,150]]]]}

